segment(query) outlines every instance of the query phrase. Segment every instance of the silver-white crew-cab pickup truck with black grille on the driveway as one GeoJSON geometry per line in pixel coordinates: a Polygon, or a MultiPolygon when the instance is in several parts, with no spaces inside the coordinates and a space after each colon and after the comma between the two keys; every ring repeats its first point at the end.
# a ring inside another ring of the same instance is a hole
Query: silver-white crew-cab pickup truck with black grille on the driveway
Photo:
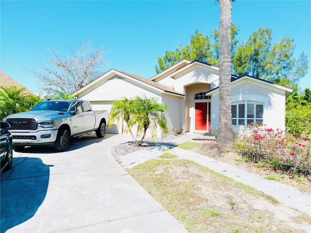
{"type": "Polygon", "coordinates": [[[53,146],[56,151],[68,148],[69,138],[96,132],[104,137],[107,111],[93,111],[86,100],[45,100],[28,112],[7,116],[11,126],[13,149],[25,146],[53,146]]]}

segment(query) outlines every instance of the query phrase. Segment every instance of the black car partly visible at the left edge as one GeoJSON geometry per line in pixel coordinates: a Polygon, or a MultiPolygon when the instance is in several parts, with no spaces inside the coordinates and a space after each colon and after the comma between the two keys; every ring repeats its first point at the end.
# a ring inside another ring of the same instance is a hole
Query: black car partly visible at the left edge
{"type": "Polygon", "coordinates": [[[10,170],[13,164],[12,134],[8,131],[8,129],[10,129],[10,124],[2,121],[0,124],[1,171],[10,170]]]}

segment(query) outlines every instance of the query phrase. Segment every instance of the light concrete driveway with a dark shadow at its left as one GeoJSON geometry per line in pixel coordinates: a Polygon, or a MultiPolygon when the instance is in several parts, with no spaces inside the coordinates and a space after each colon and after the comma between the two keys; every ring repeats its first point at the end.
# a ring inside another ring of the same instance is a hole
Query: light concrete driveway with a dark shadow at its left
{"type": "Polygon", "coordinates": [[[1,173],[1,233],[187,232],[110,154],[129,135],[14,151],[1,173]]]}

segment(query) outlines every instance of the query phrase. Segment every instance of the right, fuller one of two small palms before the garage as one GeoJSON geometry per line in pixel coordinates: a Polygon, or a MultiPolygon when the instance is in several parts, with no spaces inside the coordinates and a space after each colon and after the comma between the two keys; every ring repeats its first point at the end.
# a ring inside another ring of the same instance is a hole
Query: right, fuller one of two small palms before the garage
{"type": "Polygon", "coordinates": [[[130,120],[130,125],[137,124],[137,135],[142,133],[142,137],[138,145],[141,145],[146,136],[147,129],[150,129],[151,137],[156,136],[157,126],[164,133],[169,133],[166,124],[165,113],[167,107],[164,104],[158,103],[157,99],[147,97],[136,97],[134,101],[135,112],[130,120]]]}

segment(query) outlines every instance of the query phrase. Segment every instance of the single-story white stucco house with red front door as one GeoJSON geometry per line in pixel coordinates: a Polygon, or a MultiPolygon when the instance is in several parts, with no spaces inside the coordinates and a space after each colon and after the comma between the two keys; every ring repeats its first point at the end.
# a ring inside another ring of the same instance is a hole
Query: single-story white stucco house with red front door
{"type": "MultiPolygon", "coordinates": [[[[183,132],[213,132],[218,128],[219,67],[183,60],[145,79],[110,69],[73,96],[89,100],[94,109],[110,111],[115,100],[155,97],[168,106],[167,124],[183,132]]],[[[293,89],[250,76],[231,76],[232,124],[239,132],[247,123],[285,129],[285,99],[293,89]]],[[[107,133],[120,133],[117,123],[107,133]]],[[[158,131],[158,136],[163,132],[158,131]]]]}

